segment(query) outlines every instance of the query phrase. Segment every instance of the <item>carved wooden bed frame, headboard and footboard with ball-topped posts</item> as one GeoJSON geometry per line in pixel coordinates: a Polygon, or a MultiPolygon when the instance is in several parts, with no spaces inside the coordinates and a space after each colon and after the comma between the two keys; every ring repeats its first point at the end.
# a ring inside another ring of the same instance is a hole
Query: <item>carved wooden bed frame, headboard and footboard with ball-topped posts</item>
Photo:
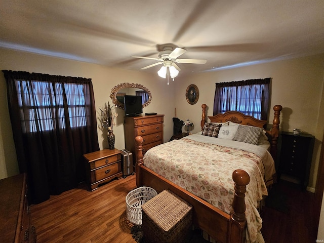
{"type": "MultiPolygon", "coordinates": [[[[206,104],[201,105],[203,114],[201,115],[201,129],[206,123],[206,104]]],[[[279,136],[279,116],[282,109],[281,105],[275,105],[273,126],[267,135],[270,137],[271,155],[276,157],[277,139],[279,136]]],[[[241,125],[250,125],[264,128],[267,124],[266,120],[258,120],[252,116],[244,115],[237,111],[228,111],[224,114],[217,114],[215,116],[208,116],[211,122],[225,122],[232,121],[241,125]]],[[[173,191],[181,198],[186,200],[193,206],[193,224],[201,230],[206,231],[211,237],[218,242],[238,243],[245,240],[246,217],[245,217],[245,192],[246,186],[250,182],[248,173],[243,170],[235,170],[232,174],[234,181],[234,198],[232,204],[231,214],[226,214],[220,209],[207,203],[205,200],[195,196],[194,194],[186,191],[173,182],[165,179],[164,177],[156,174],[152,170],[145,167],[143,163],[142,154],[143,138],[138,136],[135,138],[136,143],[136,185],[149,186],[154,188],[158,193],[168,189],[173,191]]]]}

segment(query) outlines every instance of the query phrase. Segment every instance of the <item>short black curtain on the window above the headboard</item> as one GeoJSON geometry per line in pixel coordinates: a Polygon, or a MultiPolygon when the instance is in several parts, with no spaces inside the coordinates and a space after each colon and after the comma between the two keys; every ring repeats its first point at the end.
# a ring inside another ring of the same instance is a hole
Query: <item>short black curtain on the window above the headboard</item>
{"type": "Polygon", "coordinates": [[[270,104],[270,77],[216,83],[214,115],[229,110],[240,111],[267,120],[270,104]]]}

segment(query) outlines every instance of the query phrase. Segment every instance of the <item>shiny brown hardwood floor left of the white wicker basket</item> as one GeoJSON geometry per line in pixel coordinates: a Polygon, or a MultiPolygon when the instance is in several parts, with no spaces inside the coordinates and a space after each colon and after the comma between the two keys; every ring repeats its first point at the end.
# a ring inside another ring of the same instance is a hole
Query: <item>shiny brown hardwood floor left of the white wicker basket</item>
{"type": "Polygon", "coordinates": [[[111,181],[95,191],[85,184],[32,205],[37,242],[134,243],[126,218],[127,193],[136,188],[135,175],[111,181]]]}

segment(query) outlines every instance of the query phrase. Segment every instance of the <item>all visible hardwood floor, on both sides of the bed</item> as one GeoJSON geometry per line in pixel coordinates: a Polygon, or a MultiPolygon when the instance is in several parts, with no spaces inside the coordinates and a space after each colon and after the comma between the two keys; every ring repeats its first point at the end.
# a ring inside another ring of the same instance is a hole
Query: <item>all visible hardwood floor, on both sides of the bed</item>
{"type": "MultiPolygon", "coordinates": [[[[92,192],[80,184],[32,205],[37,242],[136,242],[130,232],[133,224],[126,218],[125,202],[134,188],[135,175],[111,181],[92,192]]],[[[278,182],[276,189],[287,195],[289,210],[285,213],[263,207],[261,231],[265,242],[315,242],[314,194],[285,181],[278,182]]]]}

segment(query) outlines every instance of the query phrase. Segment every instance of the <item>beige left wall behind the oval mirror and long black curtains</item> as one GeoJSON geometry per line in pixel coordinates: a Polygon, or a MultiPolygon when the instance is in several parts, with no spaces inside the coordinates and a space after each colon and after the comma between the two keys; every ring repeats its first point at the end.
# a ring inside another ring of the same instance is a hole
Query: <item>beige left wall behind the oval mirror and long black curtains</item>
{"type": "MultiPolygon", "coordinates": [[[[169,141],[173,135],[174,116],[174,83],[167,85],[165,79],[157,75],[147,74],[143,71],[129,71],[116,68],[108,68],[101,65],[84,62],[70,61],[47,56],[28,54],[23,52],[0,49],[0,70],[16,70],[49,73],[65,76],[79,76],[92,78],[94,87],[95,103],[97,111],[105,102],[110,102],[111,89],[120,83],[137,83],[145,86],[152,94],[150,105],[143,112],[157,112],[165,114],[164,139],[169,141]]],[[[124,110],[117,109],[118,117],[116,127],[113,129],[115,147],[125,148],[124,139],[124,110]]],[[[100,149],[107,148],[106,132],[98,129],[98,141],[100,149]]],[[[19,148],[18,148],[19,149],[19,148]]],[[[3,73],[0,73],[0,179],[19,173],[16,150],[13,141],[10,123],[7,86],[3,73]]]]}

